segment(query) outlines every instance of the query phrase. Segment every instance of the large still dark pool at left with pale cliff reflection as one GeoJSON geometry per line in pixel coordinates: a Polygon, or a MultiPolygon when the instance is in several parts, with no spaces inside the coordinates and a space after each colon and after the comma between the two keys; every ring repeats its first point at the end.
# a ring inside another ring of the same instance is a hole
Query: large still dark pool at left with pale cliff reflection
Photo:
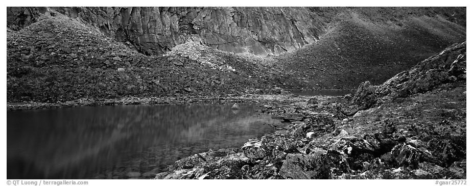
{"type": "MultiPolygon", "coordinates": [[[[251,105],[120,105],[7,112],[7,179],[128,178],[239,148],[280,120],[251,105]]],[[[143,177],[142,177],[143,178],[143,177]]]]}

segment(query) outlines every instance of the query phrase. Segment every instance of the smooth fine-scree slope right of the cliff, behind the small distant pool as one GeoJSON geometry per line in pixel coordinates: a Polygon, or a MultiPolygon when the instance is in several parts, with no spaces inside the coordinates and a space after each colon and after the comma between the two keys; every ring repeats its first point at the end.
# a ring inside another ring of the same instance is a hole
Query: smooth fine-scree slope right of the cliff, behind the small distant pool
{"type": "Polygon", "coordinates": [[[397,23],[370,20],[358,12],[346,17],[316,43],[276,57],[281,68],[306,81],[304,88],[353,89],[364,81],[383,83],[466,39],[463,26],[442,17],[393,20],[397,23]]]}

